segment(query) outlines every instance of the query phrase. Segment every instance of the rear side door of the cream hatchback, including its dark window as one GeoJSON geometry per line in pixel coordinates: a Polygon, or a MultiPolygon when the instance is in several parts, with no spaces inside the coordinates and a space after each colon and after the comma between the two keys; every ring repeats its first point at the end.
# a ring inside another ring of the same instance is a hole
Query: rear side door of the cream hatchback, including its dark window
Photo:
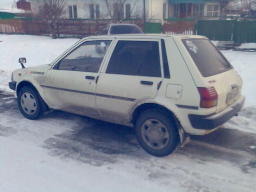
{"type": "Polygon", "coordinates": [[[163,80],[160,40],[118,39],[96,86],[96,107],[110,119],[126,119],[141,99],[154,98],[163,80]]]}

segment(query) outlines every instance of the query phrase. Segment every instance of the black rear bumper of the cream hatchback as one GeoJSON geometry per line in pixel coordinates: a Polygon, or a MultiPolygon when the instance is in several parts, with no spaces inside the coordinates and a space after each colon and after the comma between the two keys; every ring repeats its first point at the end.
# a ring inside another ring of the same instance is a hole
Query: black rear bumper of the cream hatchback
{"type": "Polygon", "coordinates": [[[202,130],[211,130],[224,124],[230,118],[235,116],[244,106],[245,97],[241,96],[236,102],[225,110],[210,115],[189,114],[188,118],[193,128],[202,130]]]}

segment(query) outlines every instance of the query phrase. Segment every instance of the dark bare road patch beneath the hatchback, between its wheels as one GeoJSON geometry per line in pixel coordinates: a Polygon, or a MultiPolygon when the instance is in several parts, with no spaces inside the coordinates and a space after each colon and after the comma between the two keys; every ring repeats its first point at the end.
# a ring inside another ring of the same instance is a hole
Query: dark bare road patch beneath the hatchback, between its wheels
{"type": "Polygon", "coordinates": [[[49,149],[51,155],[76,159],[94,166],[117,162],[115,155],[147,157],[140,149],[132,128],[66,112],[54,112],[52,115],[75,120],[76,126],[44,142],[43,147],[49,149]]]}

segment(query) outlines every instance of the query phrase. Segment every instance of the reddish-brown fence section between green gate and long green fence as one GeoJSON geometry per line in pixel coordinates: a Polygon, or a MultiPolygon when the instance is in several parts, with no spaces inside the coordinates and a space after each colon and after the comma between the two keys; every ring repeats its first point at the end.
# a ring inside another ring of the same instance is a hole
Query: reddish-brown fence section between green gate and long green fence
{"type": "Polygon", "coordinates": [[[163,24],[164,34],[194,34],[196,20],[193,19],[166,19],[163,24]]]}

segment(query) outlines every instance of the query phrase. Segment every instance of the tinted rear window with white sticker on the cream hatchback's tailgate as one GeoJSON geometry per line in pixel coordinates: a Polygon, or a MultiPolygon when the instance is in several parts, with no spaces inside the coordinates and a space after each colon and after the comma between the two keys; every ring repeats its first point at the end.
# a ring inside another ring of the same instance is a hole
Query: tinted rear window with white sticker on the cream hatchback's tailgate
{"type": "Polygon", "coordinates": [[[232,66],[208,39],[182,40],[197,68],[204,77],[220,74],[232,66]]]}

